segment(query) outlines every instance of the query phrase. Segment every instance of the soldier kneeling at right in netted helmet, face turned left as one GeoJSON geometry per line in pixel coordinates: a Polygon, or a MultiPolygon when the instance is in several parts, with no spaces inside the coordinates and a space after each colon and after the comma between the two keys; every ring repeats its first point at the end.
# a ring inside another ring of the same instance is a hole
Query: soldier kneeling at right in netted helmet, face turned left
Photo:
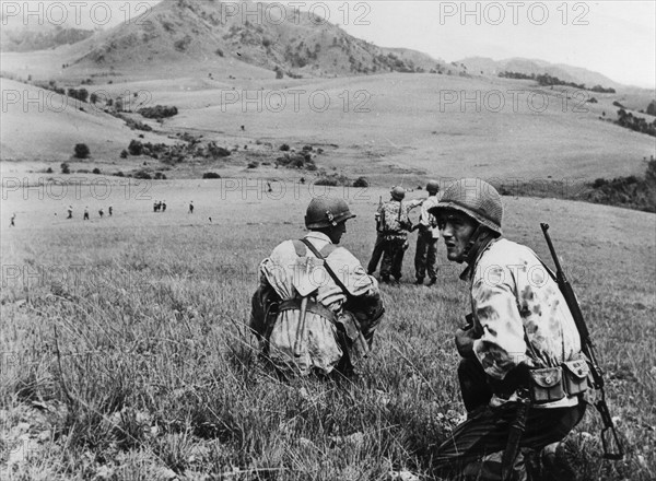
{"type": "Polygon", "coordinates": [[[581,337],[551,272],[531,249],[502,237],[494,187],[456,181],[430,213],[448,260],[467,263],[460,278],[472,308],[456,331],[468,419],[433,459],[448,479],[526,479],[518,449],[538,453],[562,439],[585,412],[581,337]]]}

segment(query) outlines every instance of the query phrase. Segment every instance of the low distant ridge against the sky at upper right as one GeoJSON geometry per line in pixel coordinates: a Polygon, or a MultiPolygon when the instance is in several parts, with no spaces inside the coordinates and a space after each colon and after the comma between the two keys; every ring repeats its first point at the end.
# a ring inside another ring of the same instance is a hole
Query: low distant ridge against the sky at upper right
{"type": "Polygon", "coordinates": [[[544,60],[511,58],[505,60],[493,60],[487,57],[469,57],[459,60],[457,63],[467,66],[471,73],[497,75],[500,72],[509,71],[530,75],[548,73],[551,77],[558,77],[565,82],[583,83],[588,87],[601,85],[602,87],[623,87],[624,85],[614,82],[606,75],[593,72],[581,67],[572,67],[564,63],[550,63],[544,60]]]}

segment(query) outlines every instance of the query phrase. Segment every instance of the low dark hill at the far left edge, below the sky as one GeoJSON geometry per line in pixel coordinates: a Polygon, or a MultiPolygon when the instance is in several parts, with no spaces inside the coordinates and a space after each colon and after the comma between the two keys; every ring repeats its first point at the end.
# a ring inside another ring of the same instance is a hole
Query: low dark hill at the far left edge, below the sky
{"type": "Polygon", "coordinates": [[[93,34],[94,31],[91,30],[63,28],[61,26],[38,30],[4,27],[0,33],[0,50],[21,52],[47,50],[60,45],[75,44],[93,34]]]}

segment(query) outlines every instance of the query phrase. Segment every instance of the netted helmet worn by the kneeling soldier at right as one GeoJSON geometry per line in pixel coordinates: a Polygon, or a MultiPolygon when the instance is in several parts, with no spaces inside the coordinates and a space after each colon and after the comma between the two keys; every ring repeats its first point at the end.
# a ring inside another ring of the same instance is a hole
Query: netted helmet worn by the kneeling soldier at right
{"type": "Polygon", "coordinates": [[[445,209],[464,212],[491,231],[502,234],[501,196],[484,180],[464,178],[453,183],[446,188],[437,206],[429,209],[429,212],[437,216],[438,212],[445,209]]]}

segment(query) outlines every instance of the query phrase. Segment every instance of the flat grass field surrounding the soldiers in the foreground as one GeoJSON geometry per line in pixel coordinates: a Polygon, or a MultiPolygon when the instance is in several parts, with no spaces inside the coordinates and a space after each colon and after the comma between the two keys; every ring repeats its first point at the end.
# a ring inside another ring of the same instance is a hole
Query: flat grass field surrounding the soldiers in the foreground
{"type": "MultiPolygon", "coordinates": [[[[464,412],[453,344],[468,305],[460,267],[441,246],[437,285],[411,285],[412,246],[406,283],[383,286],[387,312],[361,376],[280,382],[244,327],[250,294],[259,261],[303,234],[309,196],[324,191],[227,183],[114,184],[103,199],[89,186],[59,200],[3,190],[1,479],[386,480],[402,469],[434,479],[431,451],[464,412]],[[154,199],[167,212],[153,213],[154,199]],[[108,204],[114,216],[98,219],[108,204]]],[[[358,214],[343,245],[365,262],[387,191],[331,195],[358,214]]],[[[549,263],[539,222],[550,223],[625,439],[623,461],[601,460],[590,409],[571,436],[577,479],[654,479],[656,218],[553,199],[504,203],[506,236],[549,263]]]]}

